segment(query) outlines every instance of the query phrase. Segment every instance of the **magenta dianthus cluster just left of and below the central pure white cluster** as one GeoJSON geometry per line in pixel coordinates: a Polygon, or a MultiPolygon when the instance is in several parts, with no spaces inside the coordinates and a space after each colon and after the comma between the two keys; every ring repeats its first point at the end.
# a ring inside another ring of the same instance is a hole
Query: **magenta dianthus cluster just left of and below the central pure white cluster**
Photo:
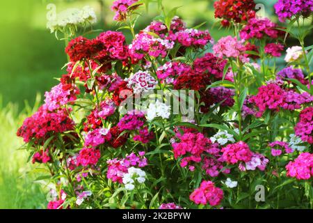
{"type": "Polygon", "coordinates": [[[124,130],[141,130],[147,119],[145,114],[141,111],[130,111],[120,119],[118,128],[124,130]]]}

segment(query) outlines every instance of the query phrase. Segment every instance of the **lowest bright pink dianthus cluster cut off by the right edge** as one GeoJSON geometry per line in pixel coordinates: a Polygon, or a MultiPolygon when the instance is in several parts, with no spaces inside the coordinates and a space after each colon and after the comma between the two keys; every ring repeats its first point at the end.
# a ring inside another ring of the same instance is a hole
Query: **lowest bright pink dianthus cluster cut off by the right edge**
{"type": "Polygon", "coordinates": [[[294,162],[286,166],[287,176],[298,180],[309,180],[313,176],[313,154],[301,153],[294,162]]]}

